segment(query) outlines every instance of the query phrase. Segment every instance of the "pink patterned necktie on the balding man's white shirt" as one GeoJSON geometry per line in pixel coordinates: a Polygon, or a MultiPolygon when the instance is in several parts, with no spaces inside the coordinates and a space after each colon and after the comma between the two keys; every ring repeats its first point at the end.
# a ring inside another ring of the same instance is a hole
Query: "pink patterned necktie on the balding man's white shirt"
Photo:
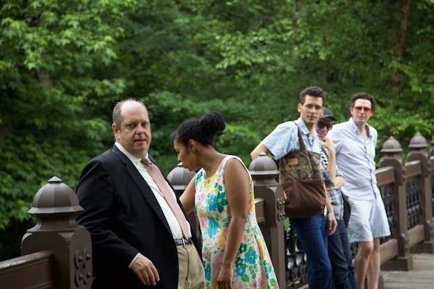
{"type": "Polygon", "coordinates": [[[156,185],[158,185],[159,189],[163,193],[164,199],[166,199],[168,205],[172,209],[172,212],[175,214],[179,226],[181,226],[181,230],[182,230],[182,234],[184,235],[184,238],[187,239],[190,238],[191,234],[190,234],[190,229],[188,228],[188,222],[186,220],[186,217],[184,213],[182,213],[182,210],[179,207],[176,198],[173,196],[172,190],[170,190],[166,179],[164,179],[163,174],[161,174],[159,168],[147,158],[142,158],[141,162],[146,165],[147,172],[149,172],[149,174],[152,176],[152,179],[154,179],[156,185]]]}

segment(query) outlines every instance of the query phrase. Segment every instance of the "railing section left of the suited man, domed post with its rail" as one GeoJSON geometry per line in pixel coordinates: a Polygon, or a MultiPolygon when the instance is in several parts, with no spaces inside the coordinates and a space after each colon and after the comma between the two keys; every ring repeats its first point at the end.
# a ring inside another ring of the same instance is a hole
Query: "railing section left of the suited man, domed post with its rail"
{"type": "Polygon", "coordinates": [[[40,188],[29,210],[38,223],[22,238],[22,256],[0,262],[0,288],[90,288],[92,242],[75,221],[82,210],[56,176],[40,188]]]}

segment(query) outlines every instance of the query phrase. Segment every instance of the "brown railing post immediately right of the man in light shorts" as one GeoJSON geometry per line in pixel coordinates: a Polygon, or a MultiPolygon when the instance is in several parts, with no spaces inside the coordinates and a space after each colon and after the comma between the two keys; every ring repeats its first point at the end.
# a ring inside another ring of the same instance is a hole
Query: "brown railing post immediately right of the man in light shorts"
{"type": "Polygon", "coordinates": [[[403,160],[401,145],[392,136],[385,141],[381,149],[380,167],[394,167],[394,217],[396,228],[394,236],[398,241],[398,255],[382,265],[383,270],[409,271],[413,268],[413,258],[410,255],[407,230],[407,196],[403,181],[403,160]]]}

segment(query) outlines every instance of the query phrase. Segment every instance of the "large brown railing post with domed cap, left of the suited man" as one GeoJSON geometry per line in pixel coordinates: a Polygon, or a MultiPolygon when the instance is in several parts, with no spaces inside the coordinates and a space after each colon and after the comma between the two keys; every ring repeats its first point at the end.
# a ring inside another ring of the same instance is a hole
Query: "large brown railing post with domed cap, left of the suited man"
{"type": "Polygon", "coordinates": [[[38,190],[29,210],[38,223],[23,236],[21,254],[53,252],[56,288],[92,286],[90,233],[75,220],[82,211],[75,192],[56,176],[38,190]]]}

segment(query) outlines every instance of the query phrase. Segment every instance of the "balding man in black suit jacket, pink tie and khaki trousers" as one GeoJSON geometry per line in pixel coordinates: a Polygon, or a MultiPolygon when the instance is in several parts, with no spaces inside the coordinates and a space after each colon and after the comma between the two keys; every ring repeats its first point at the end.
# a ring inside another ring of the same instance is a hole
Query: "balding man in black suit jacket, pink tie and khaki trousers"
{"type": "Polygon", "coordinates": [[[77,186],[77,220],[93,242],[93,288],[204,288],[200,242],[191,229],[182,233],[143,163],[154,163],[147,108],[120,101],[112,129],[115,145],[90,160],[77,186]]]}

